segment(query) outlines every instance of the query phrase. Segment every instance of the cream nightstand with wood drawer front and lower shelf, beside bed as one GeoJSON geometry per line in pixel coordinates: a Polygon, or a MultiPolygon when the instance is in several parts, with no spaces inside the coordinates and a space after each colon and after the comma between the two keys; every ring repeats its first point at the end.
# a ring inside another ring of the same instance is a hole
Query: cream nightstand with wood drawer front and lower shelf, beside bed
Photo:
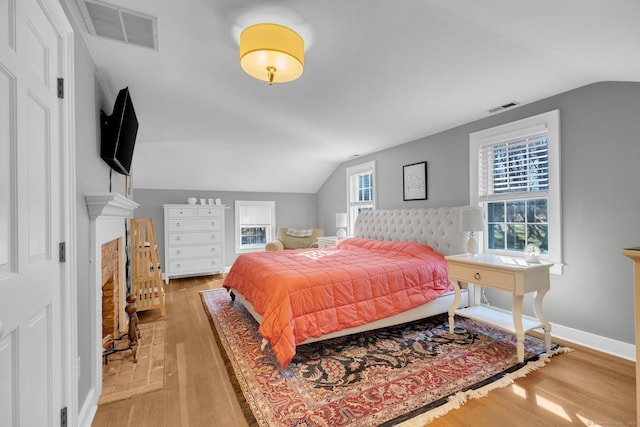
{"type": "Polygon", "coordinates": [[[515,333],[518,362],[524,361],[524,334],[532,329],[544,330],[546,350],[551,350],[551,325],[542,313],[542,299],[550,288],[549,268],[552,264],[533,264],[525,262],[522,258],[490,254],[450,255],[445,259],[449,265],[449,279],[456,294],[449,308],[449,329],[452,333],[453,316],[457,314],[515,333]],[[456,309],[461,298],[458,281],[511,292],[512,313],[485,305],[456,309]],[[533,304],[535,318],[523,318],[522,300],[524,295],[530,292],[536,293],[533,304]]]}

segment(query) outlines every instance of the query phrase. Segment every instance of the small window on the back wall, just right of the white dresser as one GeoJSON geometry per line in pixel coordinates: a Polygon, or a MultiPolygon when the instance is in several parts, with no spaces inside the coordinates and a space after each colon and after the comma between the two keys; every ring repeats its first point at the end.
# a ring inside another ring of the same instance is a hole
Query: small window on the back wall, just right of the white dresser
{"type": "Polygon", "coordinates": [[[236,200],[236,252],[264,250],[274,239],[275,202],[236,200]]]}

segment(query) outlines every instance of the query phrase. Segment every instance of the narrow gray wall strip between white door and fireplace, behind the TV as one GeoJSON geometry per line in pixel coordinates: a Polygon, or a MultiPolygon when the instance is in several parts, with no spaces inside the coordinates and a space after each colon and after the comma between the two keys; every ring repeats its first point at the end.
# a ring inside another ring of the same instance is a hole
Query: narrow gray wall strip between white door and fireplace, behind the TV
{"type": "MultiPolygon", "coordinates": [[[[105,95],[96,81],[95,65],[80,37],[75,34],[75,133],[76,133],[76,203],[77,203],[77,260],[78,260],[78,358],[80,374],[78,378],[78,405],[81,408],[91,389],[90,359],[93,343],[91,328],[94,320],[89,300],[89,212],[85,193],[109,192],[109,166],[100,158],[99,109],[105,103],[105,95]]],[[[109,101],[106,101],[109,103],[109,101]]],[[[111,111],[111,107],[105,108],[111,111]]],[[[113,174],[111,180],[114,191],[124,194],[124,176],[113,174]]]]}

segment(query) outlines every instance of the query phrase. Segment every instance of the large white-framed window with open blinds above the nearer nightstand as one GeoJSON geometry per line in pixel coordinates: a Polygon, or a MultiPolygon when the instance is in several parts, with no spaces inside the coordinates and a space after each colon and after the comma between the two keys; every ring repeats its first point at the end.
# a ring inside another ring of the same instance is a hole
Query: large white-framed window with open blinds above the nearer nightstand
{"type": "Polygon", "coordinates": [[[560,129],[554,110],[469,136],[471,204],[484,208],[484,251],[523,256],[532,243],[562,271],[560,129]]]}

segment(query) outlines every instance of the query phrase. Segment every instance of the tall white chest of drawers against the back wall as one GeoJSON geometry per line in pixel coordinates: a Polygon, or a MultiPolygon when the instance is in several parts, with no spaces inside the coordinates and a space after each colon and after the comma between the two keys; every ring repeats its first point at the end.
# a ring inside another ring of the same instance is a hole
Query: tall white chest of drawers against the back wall
{"type": "Polygon", "coordinates": [[[164,281],[224,272],[224,206],[163,205],[164,281]]]}

